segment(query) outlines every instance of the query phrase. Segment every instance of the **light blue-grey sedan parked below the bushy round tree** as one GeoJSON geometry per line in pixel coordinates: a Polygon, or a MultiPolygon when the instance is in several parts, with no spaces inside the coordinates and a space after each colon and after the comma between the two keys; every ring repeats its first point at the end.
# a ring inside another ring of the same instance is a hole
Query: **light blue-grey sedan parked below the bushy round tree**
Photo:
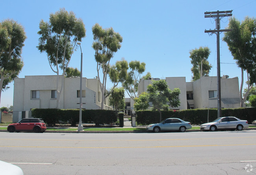
{"type": "Polygon", "coordinates": [[[191,129],[191,123],[185,122],[180,118],[167,118],[160,123],[150,124],[147,126],[147,131],[153,131],[158,133],[160,131],[171,131],[176,130],[180,132],[185,132],[186,129],[191,129]]]}

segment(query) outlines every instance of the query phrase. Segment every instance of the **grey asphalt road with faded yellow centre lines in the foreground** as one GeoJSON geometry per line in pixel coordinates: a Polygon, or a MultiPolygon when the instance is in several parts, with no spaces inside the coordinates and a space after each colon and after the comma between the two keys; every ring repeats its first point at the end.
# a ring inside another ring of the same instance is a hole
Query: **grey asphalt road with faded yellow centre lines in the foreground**
{"type": "Polygon", "coordinates": [[[19,166],[25,175],[250,175],[256,174],[256,130],[0,132],[0,160],[19,166]]]}

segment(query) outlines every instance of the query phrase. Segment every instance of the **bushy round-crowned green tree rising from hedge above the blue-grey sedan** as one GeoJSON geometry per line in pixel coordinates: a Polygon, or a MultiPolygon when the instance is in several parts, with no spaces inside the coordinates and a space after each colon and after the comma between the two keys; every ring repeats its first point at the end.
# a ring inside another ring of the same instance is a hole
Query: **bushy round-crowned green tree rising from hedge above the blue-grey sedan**
{"type": "Polygon", "coordinates": [[[147,92],[141,93],[138,98],[135,98],[134,108],[135,110],[145,110],[150,107],[152,110],[159,111],[161,122],[161,110],[169,110],[170,106],[172,108],[180,106],[179,95],[180,89],[169,89],[165,80],[153,81],[148,85],[147,92]]]}

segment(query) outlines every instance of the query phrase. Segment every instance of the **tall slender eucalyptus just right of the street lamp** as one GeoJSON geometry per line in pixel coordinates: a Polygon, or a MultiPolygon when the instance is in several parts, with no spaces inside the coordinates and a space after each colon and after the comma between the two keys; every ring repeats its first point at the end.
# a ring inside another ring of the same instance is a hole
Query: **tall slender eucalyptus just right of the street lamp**
{"type": "Polygon", "coordinates": [[[111,73],[109,77],[111,82],[114,83],[113,88],[122,81],[124,71],[119,74],[117,70],[125,69],[126,63],[122,61],[121,64],[115,66],[110,65],[111,58],[114,57],[114,54],[121,48],[122,36],[119,33],[116,33],[113,28],[102,29],[99,24],[95,24],[92,27],[93,31],[93,49],[95,50],[95,61],[97,62],[97,73],[100,81],[100,90],[102,93],[101,96],[101,109],[104,109],[104,101],[109,96],[109,93],[106,93],[106,82],[108,74],[111,73]],[[101,76],[100,76],[101,70],[101,76]]]}

